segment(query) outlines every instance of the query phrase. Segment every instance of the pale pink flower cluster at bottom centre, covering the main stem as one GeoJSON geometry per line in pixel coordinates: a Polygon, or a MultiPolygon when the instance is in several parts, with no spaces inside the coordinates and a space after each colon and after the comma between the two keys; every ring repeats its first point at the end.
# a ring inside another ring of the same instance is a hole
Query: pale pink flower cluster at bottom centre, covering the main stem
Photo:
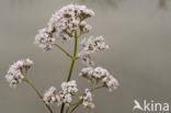
{"type": "Polygon", "coordinates": [[[70,103],[72,101],[72,95],[78,92],[76,80],[61,83],[61,91],[56,95],[58,104],[70,103]]]}

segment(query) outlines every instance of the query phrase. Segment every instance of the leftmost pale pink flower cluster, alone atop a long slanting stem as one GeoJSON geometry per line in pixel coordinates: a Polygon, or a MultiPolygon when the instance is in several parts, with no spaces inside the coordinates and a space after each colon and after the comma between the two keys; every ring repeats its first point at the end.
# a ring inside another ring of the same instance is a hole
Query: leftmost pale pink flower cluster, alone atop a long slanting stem
{"type": "Polygon", "coordinates": [[[5,75],[7,81],[10,83],[11,88],[16,88],[16,84],[20,83],[24,76],[21,70],[29,69],[33,65],[33,61],[29,58],[21,59],[10,66],[8,74],[5,75]]]}

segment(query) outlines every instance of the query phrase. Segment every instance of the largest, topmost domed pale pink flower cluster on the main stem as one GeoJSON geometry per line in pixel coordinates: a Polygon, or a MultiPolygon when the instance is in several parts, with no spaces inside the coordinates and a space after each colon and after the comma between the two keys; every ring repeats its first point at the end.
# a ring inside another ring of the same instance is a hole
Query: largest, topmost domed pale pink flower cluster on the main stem
{"type": "Polygon", "coordinates": [[[86,5],[69,4],[55,13],[48,25],[57,30],[57,37],[67,41],[78,30],[80,30],[80,33],[89,32],[91,26],[84,20],[92,15],[94,15],[94,12],[86,5]]]}

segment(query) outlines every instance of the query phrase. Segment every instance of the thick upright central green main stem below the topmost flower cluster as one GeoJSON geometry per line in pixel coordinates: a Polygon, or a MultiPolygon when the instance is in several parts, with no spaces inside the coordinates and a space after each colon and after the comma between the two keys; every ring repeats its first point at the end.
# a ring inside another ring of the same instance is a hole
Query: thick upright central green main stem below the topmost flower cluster
{"type": "MultiPolygon", "coordinates": [[[[70,64],[70,69],[69,69],[67,81],[70,81],[70,79],[71,79],[71,75],[72,75],[72,70],[73,70],[73,66],[75,66],[75,60],[77,59],[77,57],[76,57],[76,55],[77,55],[77,43],[78,43],[78,35],[77,35],[77,31],[76,31],[75,32],[75,52],[73,52],[72,60],[70,64]]],[[[65,103],[61,104],[60,113],[64,112],[64,108],[65,108],[65,103]]]]}

